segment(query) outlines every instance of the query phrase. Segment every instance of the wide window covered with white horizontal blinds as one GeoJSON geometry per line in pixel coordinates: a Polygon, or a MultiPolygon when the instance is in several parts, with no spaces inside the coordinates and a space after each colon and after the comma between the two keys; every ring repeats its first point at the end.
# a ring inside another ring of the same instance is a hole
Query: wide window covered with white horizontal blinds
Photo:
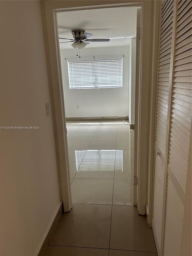
{"type": "Polygon", "coordinates": [[[68,61],[69,89],[122,87],[122,58],[68,61]]]}

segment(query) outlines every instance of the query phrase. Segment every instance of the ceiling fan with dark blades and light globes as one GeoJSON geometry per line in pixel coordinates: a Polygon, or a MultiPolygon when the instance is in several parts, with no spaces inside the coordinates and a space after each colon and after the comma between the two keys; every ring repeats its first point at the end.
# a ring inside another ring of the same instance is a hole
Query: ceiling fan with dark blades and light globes
{"type": "Polygon", "coordinates": [[[89,37],[92,36],[90,33],[85,33],[85,30],[83,29],[73,29],[72,35],[74,39],[69,39],[69,38],[59,38],[59,39],[65,39],[65,40],[70,40],[66,42],[60,42],[61,43],[67,43],[67,42],[73,42],[71,46],[73,48],[78,48],[82,49],[84,48],[89,42],[109,42],[110,39],[104,39],[104,38],[98,38],[98,39],[88,39],[89,37]]]}

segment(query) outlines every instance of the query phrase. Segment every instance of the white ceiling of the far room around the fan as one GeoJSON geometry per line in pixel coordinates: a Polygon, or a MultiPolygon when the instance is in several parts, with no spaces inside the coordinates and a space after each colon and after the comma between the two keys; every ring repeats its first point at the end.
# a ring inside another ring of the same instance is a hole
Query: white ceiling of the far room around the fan
{"type": "MultiPolygon", "coordinates": [[[[58,13],[57,17],[59,37],[73,39],[71,30],[84,29],[93,34],[90,39],[110,39],[109,42],[90,42],[86,48],[125,46],[136,36],[137,7],[69,11],[58,13]]],[[[71,44],[62,43],[60,49],[73,49],[71,44]]]]}

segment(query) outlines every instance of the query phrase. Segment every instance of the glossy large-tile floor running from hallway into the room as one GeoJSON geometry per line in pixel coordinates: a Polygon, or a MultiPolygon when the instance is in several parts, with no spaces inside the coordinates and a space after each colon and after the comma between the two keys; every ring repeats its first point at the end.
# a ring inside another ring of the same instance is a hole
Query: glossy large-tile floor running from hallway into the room
{"type": "Polygon", "coordinates": [[[156,256],[133,206],[134,130],[121,122],[67,123],[73,208],[46,256],[156,256]]]}

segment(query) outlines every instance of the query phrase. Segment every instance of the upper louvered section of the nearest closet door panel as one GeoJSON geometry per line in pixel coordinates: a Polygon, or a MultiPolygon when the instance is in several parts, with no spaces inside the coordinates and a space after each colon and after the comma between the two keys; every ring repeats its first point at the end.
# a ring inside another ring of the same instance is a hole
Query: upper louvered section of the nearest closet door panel
{"type": "Polygon", "coordinates": [[[185,194],[191,129],[191,1],[178,3],[168,167],[185,194]],[[182,14],[182,18],[180,17],[182,14]],[[184,19],[184,17],[187,18],[184,19]],[[187,38],[181,39],[187,32],[187,38]],[[183,42],[183,44],[182,44],[183,42]],[[180,60],[178,63],[177,60],[180,60]]]}

